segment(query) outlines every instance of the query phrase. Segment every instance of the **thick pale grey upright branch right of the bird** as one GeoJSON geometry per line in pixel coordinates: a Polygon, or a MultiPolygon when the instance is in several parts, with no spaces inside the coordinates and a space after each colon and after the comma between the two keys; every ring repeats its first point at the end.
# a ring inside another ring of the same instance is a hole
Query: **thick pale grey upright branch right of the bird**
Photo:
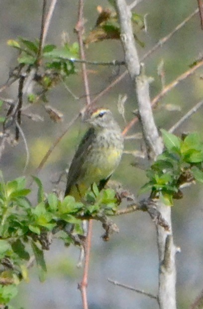
{"type": "MultiPolygon", "coordinates": [[[[116,6],[119,14],[121,41],[125,53],[126,65],[136,91],[138,118],[141,122],[148,157],[151,158],[152,155],[156,157],[162,153],[163,146],[153,119],[150,104],[150,80],[144,75],[143,67],[140,72],[129,7],[125,0],[116,0],[116,6]]],[[[164,205],[161,201],[157,203],[157,208],[163,219],[169,225],[169,231],[164,230],[161,226],[157,226],[157,245],[160,263],[158,303],[160,309],[176,309],[176,249],[173,243],[171,208],[164,205]]]]}

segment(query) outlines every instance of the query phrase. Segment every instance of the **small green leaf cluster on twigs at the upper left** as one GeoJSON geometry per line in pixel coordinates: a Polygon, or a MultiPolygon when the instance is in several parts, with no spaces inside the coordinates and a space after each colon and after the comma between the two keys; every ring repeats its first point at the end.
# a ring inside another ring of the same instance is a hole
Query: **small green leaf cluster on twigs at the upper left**
{"type": "MultiPolygon", "coordinates": [[[[57,47],[54,44],[45,45],[39,56],[39,40],[28,40],[18,36],[17,40],[10,39],[7,44],[19,51],[17,58],[20,71],[26,68],[29,72],[33,67],[37,68],[40,61],[41,70],[34,76],[34,81],[44,91],[54,87],[58,81],[77,72],[74,59],[79,57],[79,45],[77,42],[57,47]],[[39,58],[40,57],[40,58],[39,58]],[[43,69],[42,69],[43,68],[43,69]]],[[[28,98],[32,103],[35,96],[30,94],[28,98]]]]}

